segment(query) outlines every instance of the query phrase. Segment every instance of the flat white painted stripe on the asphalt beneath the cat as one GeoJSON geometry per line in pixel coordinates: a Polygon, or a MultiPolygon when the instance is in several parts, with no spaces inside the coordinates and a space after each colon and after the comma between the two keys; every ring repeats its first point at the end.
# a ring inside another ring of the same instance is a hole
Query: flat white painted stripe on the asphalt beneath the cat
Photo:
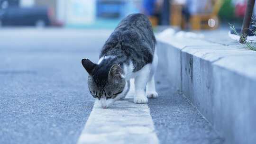
{"type": "Polygon", "coordinates": [[[132,79],[126,99],[111,108],[101,108],[96,100],[77,144],[159,144],[150,109],[134,103],[134,94],[132,79]]]}

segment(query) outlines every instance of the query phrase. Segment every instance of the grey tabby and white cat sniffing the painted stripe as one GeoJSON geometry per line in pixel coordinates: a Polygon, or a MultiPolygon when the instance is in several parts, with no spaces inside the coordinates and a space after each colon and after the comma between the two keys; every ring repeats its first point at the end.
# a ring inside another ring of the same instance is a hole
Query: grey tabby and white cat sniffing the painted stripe
{"type": "Polygon", "coordinates": [[[155,36],[148,18],[131,14],[124,18],[101,49],[99,62],[82,59],[89,73],[91,95],[99,99],[102,108],[125,98],[130,79],[135,79],[135,103],[147,103],[157,98],[154,74],[158,63],[155,36]]]}

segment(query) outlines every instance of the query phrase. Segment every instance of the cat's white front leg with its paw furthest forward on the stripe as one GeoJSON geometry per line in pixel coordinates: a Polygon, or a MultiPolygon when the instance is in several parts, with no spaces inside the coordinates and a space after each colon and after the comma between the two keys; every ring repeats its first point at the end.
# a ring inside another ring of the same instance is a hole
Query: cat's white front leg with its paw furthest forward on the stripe
{"type": "Polygon", "coordinates": [[[134,103],[147,103],[146,84],[150,74],[150,65],[144,66],[135,77],[134,103]]]}

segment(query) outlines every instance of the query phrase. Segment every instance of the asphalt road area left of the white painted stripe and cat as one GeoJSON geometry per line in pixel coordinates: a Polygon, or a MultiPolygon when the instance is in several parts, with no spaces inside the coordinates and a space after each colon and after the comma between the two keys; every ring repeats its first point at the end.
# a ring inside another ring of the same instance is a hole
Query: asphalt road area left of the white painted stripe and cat
{"type": "Polygon", "coordinates": [[[94,99],[81,59],[109,31],[0,31],[0,144],[75,144],[94,99]]]}

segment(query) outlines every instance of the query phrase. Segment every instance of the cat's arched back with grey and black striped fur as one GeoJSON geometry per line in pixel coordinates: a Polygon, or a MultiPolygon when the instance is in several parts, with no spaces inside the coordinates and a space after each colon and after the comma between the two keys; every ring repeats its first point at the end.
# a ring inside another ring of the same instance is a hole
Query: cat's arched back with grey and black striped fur
{"type": "Polygon", "coordinates": [[[148,18],[143,14],[131,14],[121,20],[103,46],[103,55],[122,56],[131,60],[135,71],[152,63],[155,52],[155,36],[148,18]],[[124,55],[125,54],[125,55],[124,55]]]}

